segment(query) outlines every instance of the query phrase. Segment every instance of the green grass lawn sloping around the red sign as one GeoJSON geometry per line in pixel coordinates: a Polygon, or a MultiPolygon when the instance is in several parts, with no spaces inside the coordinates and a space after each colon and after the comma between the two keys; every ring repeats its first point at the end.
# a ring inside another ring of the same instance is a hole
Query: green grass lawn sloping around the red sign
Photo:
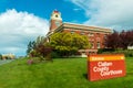
{"type": "Polygon", "coordinates": [[[133,57],[126,57],[126,76],[89,81],[86,58],[62,58],[28,65],[16,59],[0,66],[0,88],[133,88],[133,57]]]}

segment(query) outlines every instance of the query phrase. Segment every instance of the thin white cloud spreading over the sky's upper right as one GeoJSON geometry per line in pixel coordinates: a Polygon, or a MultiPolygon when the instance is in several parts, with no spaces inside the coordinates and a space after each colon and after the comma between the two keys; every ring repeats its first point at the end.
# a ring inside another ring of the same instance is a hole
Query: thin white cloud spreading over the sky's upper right
{"type": "Polygon", "coordinates": [[[133,0],[72,0],[85,11],[89,25],[112,29],[133,28],[133,0]]]}

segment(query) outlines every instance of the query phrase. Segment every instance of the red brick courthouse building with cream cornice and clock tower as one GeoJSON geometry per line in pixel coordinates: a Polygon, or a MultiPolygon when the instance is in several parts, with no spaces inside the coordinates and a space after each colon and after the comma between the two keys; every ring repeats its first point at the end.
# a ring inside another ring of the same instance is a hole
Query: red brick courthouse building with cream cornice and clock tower
{"type": "Polygon", "coordinates": [[[90,50],[79,50],[79,52],[88,54],[96,53],[98,48],[104,48],[104,38],[108,34],[112,33],[112,30],[99,26],[62,22],[61,13],[54,10],[50,18],[50,29],[47,37],[49,38],[49,36],[55,32],[70,32],[86,35],[92,47],[90,50]]]}

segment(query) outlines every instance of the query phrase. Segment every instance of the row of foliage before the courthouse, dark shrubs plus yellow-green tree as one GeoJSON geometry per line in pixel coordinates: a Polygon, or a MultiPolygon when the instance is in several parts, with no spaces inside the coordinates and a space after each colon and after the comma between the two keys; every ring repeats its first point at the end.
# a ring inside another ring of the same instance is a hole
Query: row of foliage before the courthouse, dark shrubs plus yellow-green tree
{"type": "Polygon", "coordinates": [[[75,54],[78,50],[90,47],[89,38],[84,35],[54,33],[50,36],[50,43],[43,36],[38,36],[35,41],[29,42],[27,54],[31,57],[50,59],[51,57],[68,57],[75,54]]]}

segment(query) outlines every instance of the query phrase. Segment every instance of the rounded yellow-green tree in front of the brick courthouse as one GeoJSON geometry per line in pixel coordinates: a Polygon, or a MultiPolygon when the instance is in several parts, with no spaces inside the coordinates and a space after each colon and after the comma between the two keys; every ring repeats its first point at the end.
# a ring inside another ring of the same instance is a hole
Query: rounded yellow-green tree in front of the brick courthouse
{"type": "Polygon", "coordinates": [[[86,36],[76,33],[54,33],[50,37],[50,45],[62,56],[69,56],[81,48],[90,48],[86,36]]]}

